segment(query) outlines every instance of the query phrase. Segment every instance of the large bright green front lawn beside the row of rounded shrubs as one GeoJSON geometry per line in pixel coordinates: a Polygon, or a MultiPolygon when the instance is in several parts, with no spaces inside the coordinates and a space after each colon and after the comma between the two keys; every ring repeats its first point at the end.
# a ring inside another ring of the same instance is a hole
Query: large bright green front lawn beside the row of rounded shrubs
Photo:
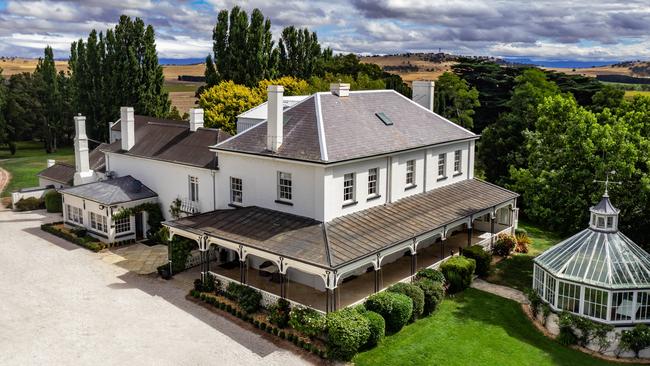
{"type": "Polygon", "coordinates": [[[356,365],[611,365],[540,333],[519,304],[475,289],[360,353],[356,365]]]}

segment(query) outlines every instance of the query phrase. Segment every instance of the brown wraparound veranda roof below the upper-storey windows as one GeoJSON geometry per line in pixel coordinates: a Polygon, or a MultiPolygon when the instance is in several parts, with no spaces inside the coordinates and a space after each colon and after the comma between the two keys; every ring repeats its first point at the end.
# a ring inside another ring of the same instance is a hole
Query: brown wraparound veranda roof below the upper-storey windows
{"type": "Polygon", "coordinates": [[[216,210],[166,224],[336,268],[515,197],[514,192],[472,179],[327,223],[253,206],[216,210]]]}

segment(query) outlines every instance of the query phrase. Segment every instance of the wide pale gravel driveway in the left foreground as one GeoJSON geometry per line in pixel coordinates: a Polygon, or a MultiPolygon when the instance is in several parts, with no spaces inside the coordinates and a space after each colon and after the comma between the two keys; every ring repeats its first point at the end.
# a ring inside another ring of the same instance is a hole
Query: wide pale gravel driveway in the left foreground
{"type": "Polygon", "coordinates": [[[57,220],[0,209],[0,365],[308,364],[187,301],[182,282],[128,272],[40,230],[57,220]]]}

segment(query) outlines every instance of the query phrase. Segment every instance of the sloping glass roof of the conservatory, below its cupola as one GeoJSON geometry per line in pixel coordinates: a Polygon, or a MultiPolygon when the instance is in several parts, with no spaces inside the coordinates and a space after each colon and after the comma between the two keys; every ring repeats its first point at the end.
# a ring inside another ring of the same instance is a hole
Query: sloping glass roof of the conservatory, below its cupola
{"type": "Polygon", "coordinates": [[[591,228],[535,258],[551,275],[609,289],[650,288],[650,254],[621,232],[591,228]]]}

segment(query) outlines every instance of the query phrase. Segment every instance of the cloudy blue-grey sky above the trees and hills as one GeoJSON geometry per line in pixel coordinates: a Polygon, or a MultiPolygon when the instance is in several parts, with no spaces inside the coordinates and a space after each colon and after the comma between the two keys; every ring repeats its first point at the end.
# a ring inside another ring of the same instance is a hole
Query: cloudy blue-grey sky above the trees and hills
{"type": "Polygon", "coordinates": [[[315,30],[337,52],[444,52],[537,59],[650,59],[648,0],[0,0],[0,55],[57,58],[120,14],[153,24],[160,57],[205,57],[221,9],[260,8],[274,35],[315,30]]]}

